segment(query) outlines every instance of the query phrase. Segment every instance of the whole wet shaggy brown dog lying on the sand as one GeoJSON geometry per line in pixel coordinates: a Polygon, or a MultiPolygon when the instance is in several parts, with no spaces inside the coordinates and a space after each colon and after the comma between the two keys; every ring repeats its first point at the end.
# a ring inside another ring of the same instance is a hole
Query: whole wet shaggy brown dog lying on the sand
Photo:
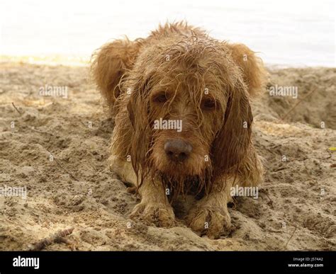
{"type": "Polygon", "coordinates": [[[250,108],[262,61],[245,45],[174,23],[103,45],[91,72],[115,116],[111,169],[141,195],[131,217],[174,226],[174,201],[192,193],[186,224],[211,238],[228,232],[230,189],[263,176],[250,108]]]}

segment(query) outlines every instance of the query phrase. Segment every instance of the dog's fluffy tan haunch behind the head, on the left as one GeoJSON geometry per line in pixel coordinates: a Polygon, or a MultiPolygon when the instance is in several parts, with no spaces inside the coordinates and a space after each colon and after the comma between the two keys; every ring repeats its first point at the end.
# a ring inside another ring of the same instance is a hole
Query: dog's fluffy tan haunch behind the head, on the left
{"type": "Polygon", "coordinates": [[[108,107],[113,108],[121,89],[121,77],[132,69],[141,45],[141,39],[114,40],[96,50],[91,57],[91,74],[108,107]]]}

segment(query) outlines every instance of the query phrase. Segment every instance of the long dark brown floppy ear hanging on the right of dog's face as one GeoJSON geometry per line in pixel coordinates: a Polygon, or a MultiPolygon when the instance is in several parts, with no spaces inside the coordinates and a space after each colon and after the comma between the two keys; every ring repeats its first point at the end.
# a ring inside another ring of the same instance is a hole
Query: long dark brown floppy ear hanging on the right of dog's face
{"type": "Polygon", "coordinates": [[[240,81],[229,91],[223,126],[211,147],[213,177],[237,172],[250,147],[252,120],[246,85],[240,81]]]}

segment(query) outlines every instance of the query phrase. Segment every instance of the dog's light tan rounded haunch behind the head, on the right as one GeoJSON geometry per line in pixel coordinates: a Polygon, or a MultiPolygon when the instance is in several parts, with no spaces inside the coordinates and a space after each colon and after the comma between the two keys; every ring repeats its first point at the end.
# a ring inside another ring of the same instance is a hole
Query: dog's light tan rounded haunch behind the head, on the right
{"type": "Polygon", "coordinates": [[[267,72],[262,59],[243,44],[228,44],[233,61],[242,70],[242,76],[251,96],[256,95],[266,84],[267,72]]]}

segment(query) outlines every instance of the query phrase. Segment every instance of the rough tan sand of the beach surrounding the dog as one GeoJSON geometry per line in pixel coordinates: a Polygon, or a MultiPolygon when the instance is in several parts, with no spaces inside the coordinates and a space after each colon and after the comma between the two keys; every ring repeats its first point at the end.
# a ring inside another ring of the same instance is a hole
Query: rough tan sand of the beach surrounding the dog
{"type": "Polygon", "coordinates": [[[297,86],[298,98],[265,89],[253,101],[265,181],[258,199],[230,205],[233,232],[211,240],[186,227],[183,208],[170,229],[128,217],[138,200],[108,169],[113,118],[87,66],[1,62],[0,187],[26,197],[0,195],[0,250],[69,228],[71,243],[45,250],[335,250],[336,69],[269,73],[268,87],[297,86]],[[41,96],[46,85],[66,94],[41,96]]]}

